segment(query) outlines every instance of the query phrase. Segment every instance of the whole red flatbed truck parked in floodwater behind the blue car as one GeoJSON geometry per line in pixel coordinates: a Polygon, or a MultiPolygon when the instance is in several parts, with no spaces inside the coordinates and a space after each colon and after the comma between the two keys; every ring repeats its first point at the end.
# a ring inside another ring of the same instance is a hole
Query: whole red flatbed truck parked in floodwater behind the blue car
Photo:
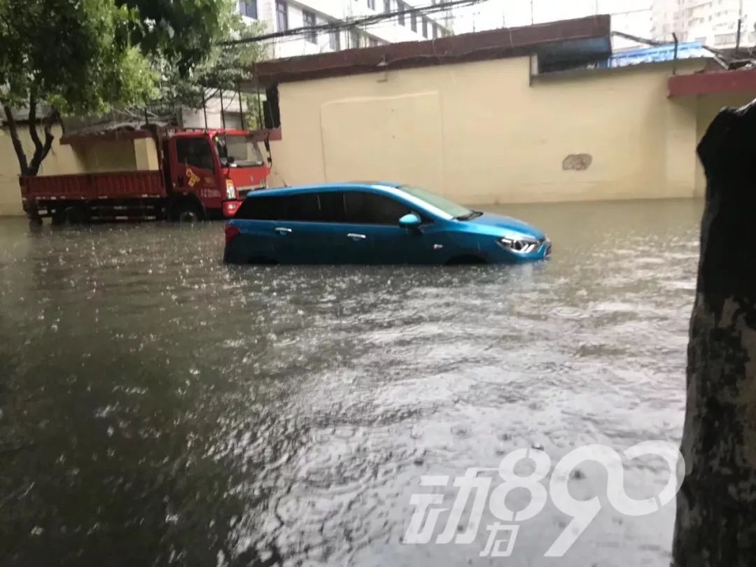
{"type": "Polygon", "coordinates": [[[270,147],[265,132],[145,129],[73,135],[68,144],[153,138],[160,169],[21,177],[23,210],[33,222],[233,217],[249,191],[267,187],[270,147]],[[265,141],[264,160],[259,141],[265,141]]]}

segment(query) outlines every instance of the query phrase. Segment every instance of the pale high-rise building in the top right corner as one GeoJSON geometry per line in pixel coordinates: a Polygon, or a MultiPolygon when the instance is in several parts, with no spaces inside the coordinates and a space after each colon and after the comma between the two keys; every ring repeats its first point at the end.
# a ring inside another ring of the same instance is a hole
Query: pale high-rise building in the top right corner
{"type": "Polygon", "coordinates": [[[701,42],[712,48],[756,45],[756,0],[654,0],[652,36],[671,41],[701,42]]]}

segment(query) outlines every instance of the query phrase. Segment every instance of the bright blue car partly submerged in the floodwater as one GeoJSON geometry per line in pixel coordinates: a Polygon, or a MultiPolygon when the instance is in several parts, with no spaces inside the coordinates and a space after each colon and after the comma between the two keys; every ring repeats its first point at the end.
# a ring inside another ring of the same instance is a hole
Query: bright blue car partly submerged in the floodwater
{"type": "Polygon", "coordinates": [[[226,226],[234,264],[513,264],[546,259],[543,231],[418,187],[345,183],[250,193],[226,226]]]}

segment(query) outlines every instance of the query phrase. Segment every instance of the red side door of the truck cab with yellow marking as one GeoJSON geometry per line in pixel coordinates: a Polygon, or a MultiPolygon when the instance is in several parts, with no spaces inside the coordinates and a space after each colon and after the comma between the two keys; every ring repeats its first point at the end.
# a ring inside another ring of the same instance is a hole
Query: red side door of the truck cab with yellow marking
{"type": "Polygon", "coordinates": [[[206,209],[220,209],[222,189],[218,187],[220,169],[215,151],[205,136],[178,136],[174,138],[175,162],[172,179],[175,191],[194,194],[206,209]]]}

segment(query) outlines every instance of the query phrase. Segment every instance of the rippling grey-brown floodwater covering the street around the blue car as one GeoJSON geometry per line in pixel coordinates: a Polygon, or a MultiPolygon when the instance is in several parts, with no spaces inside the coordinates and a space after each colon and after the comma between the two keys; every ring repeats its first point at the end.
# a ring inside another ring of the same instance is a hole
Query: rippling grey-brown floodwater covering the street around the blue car
{"type": "MultiPolygon", "coordinates": [[[[618,513],[596,463],[569,478],[601,507],[562,559],[553,500],[503,522],[507,558],[481,556],[488,506],[472,544],[437,543],[469,467],[494,488],[519,448],[555,465],[682,432],[701,203],[495,209],[553,259],[227,267],[220,224],[0,221],[0,565],[668,565],[674,502],[618,513]],[[431,542],[408,544],[432,492],[431,542]]],[[[670,475],[624,473],[634,498],[670,475]]]]}

